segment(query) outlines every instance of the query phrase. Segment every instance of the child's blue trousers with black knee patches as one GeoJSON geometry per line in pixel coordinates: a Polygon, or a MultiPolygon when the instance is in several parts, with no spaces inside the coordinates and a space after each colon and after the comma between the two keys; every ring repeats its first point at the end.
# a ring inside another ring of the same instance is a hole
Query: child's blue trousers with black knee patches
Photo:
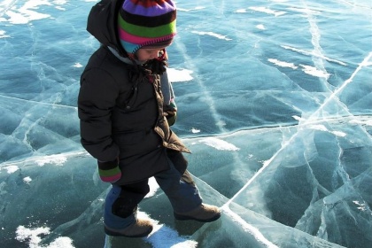
{"type": "MultiPolygon", "coordinates": [[[[202,203],[198,188],[186,170],[187,161],[181,152],[168,151],[170,169],[155,174],[161,190],[165,192],[174,212],[188,212],[202,203]]],[[[124,229],[136,221],[137,205],[150,191],[148,179],[127,185],[112,185],[105,199],[105,225],[124,229]]]]}

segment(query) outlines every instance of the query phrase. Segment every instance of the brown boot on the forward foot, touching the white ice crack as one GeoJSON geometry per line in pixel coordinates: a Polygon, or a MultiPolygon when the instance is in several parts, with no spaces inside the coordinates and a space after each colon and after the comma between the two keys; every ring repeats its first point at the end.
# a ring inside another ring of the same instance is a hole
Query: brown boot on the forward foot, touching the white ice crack
{"type": "Polygon", "coordinates": [[[175,213],[174,218],[179,221],[212,222],[221,217],[221,210],[215,205],[202,204],[186,213],[175,213]]]}

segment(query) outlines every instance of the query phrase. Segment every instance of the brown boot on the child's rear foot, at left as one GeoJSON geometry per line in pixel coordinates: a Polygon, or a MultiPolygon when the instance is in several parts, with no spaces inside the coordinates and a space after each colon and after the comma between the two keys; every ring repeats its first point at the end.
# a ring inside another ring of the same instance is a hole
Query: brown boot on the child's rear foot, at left
{"type": "Polygon", "coordinates": [[[125,229],[111,229],[105,226],[105,233],[109,236],[127,236],[127,237],[143,237],[148,236],[152,231],[151,221],[137,219],[125,229]]]}

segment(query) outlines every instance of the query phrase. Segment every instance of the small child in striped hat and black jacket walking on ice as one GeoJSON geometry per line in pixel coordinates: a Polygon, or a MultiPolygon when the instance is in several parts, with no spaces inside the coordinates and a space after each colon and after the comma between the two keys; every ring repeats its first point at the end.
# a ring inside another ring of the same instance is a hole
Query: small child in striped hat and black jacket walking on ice
{"type": "Polygon", "coordinates": [[[202,203],[169,128],[176,108],[167,81],[166,47],[175,35],[171,0],[103,0],[87,30],[101,43],[81,74],[78,98],[81,144],[97,159],[112,189],[105,199],[105,233],[147,236],[151,221],[136,218],[154,176],[177,220],[215,221],[221,211],[202,203]]]}

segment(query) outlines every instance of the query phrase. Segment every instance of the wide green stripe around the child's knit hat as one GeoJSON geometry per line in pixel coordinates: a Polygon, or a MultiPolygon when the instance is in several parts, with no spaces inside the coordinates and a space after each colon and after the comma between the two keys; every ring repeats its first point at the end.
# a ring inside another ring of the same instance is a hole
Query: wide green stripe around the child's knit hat
{"type": "Polygon", "coordinates": [[[162,25],[159,27],[143,27],[143,26],[137,26],[130,24],[126,22],[124,19],[119,18],[119,28],[126,30],[127,33],[142,37],[149,37],[149,38],[156,38],[159,36],[164,35],[175,35],[176,33],[176,27],[175,27],[176,20],[172,21],[171,23],[168,23],[166,25],[162,25]],[[125,27],[125,28],[124,28],[125,27]]]}

